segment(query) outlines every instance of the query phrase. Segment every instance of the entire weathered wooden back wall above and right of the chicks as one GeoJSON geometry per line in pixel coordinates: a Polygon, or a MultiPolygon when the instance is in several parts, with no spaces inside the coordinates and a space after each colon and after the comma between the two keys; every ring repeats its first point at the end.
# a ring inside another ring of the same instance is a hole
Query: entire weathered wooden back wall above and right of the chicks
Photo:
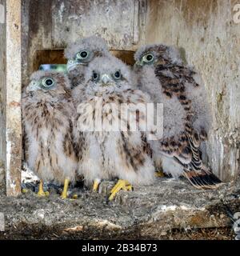
{"type": "Polygon", "coordinates": [[[240,24],[238,0],[24,0],[23,84],[35,69],[36,50],[64,48],[76,38],[99,34],[112,50],[136,50],[145,43],[183,47],[187,62],[206,83],[214,115],[207,153],[224,180],[239,170],[240,24]]]}

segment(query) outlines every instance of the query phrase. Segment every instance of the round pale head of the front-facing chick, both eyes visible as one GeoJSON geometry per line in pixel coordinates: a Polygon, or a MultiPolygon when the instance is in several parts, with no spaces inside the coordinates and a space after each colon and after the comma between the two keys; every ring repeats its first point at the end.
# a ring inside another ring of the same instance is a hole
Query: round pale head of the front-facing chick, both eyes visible
{"type": "Polygon", "coordinates": [[[132,84],[131,71],[118,58],[95,58],[86,69],[87,89],[91,92],[125,90],[132,84]]]}

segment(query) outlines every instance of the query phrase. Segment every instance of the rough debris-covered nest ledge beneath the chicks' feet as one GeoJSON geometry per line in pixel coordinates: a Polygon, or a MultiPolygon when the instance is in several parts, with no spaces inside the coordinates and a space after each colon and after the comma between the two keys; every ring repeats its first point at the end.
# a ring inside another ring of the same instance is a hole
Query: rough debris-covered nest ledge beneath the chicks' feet
{"type": "MultiPolygon", "coordinates": [[[[214,191],[193,190],[186,181],[158,178],[153,186],[121,191],[108,203],[114,182],[102,182],[99,194],[79,190],[76,200],[62,200],[53,193],[49,198],[37,198],[33,193],[18,198],[0,196],[6,224],[0,239],[166,239],[176,229],[221,229],[230,226],[225,205],[240,211],[239,185],[238,180],[214,191]]],[[[233,239],[228,232],[227,238],[233,239]]]]}

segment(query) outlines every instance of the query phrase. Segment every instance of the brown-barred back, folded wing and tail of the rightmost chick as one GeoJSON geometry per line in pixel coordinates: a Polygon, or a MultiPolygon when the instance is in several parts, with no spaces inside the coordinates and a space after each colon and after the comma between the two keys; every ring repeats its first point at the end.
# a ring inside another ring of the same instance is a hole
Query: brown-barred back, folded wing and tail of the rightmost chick
{"type": "Polygon", "coordinates": [[[158,65],[154,73],[162,86],[164,105],[164,133],[158,150],[182,167],[182,174],[193,186],[216,188],[221,181],[203,165],[200,150],[210,122],[206,90],[194,79],[194,70],[186,66],[158,65]]]}

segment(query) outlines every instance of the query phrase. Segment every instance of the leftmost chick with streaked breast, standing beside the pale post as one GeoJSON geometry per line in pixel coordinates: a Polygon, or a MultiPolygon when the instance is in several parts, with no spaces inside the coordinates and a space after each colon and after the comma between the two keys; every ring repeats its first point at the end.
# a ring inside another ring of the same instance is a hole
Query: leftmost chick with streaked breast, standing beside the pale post
{"type": "Polygon", "coordinates": [[[70,81],[66,74],[38,70],[22,96],[26,162],[40,178],[38,196],[46,196],[43,182],[64,184],[67,198],[75,181],[77,158],[73,144],[73,115],[70,81]]]}

